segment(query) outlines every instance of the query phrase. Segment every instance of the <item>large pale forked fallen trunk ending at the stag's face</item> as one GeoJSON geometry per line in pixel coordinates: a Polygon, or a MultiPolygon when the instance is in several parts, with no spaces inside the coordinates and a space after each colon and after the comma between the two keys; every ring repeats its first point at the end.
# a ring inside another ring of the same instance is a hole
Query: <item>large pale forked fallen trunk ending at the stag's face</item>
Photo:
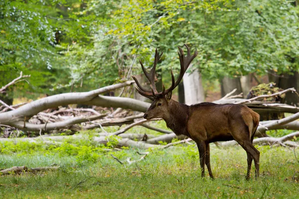
{"type": "Polygon", "coordinates": [[[0,113],[0,123],[9,124],[19,120],[20,118],[23,120],[25,117],[26,119],[29,119],[32,115],[51,107],[78,103],[99,105],[104,107],[124,106],[124,108],[145,111],[149,107],[149,103],[147,102],[134,100],[131,98],[99,96],[102,93],[129,86],[133,83],[134,81],[127,81],[125,83],[111,85],[90,92],[59,94],[31,101],[17,109],[0,113]]]}

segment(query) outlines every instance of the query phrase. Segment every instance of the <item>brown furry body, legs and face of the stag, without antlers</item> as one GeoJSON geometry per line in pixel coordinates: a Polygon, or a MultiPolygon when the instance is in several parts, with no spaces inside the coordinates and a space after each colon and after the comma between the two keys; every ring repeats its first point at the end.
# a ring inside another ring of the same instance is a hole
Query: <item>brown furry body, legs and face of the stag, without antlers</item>
{"type": "Polygon", "coordinates": [[[209,175],[213,178],[210,167],[209,143],[228,140],[236,140],[247,152],[248,170],[246,178],[250,177],[253,159],[256,177],[259,176],[260,152],[252,145],[260,120],[258,113],[243,104],[204,102],[188,106],[170,98],[168,96],[154,99],[145,113],[145,118],[161,117],[165,120],[167,127],[173,130],[175,134],[184,134],[197,143],[202,176],[204,176],[204,165],[206,164],[209,175]]]}

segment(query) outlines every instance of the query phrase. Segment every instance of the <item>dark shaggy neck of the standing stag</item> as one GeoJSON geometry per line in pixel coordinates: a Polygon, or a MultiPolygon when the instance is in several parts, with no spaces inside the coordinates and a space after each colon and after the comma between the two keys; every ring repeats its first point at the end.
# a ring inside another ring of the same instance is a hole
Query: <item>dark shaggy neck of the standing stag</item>
{"type": "Polygon", "coordinates": [[[189,118],[189,106],[174,100],[168,102],[169,114],[164,116],[168,128],[176,135],[189,135],[187,131],[187,121],[189,118]]]}

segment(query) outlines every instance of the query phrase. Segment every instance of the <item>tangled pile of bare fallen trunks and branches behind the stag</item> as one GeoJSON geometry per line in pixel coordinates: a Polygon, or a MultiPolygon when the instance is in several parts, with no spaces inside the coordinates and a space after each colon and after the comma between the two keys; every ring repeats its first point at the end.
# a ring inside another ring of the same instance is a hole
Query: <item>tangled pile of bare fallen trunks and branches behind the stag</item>
{"type": "MultiPolygon", "coordinates": [[[[0,91],[3,92],[7,87],[17,83],[18,81],[22,81],[22,78],[24,77],[29,76],[23,76],[21,74],[20,77],[16,78],[11,83],[1,87],[0,91]]],[[[186,140],[185,136],[176,136],[171,131],[159,129],[146,124],[149,120],[141,119],[143,117],[143,113],[136,114],[134,112],[145,112],[150,105],[148,102],[125,97],[108,97],[101,95],[112,90],[123,89],[131,86],[133,82],[134,81],[126,81],[124,83],[103,87],[90,92],[59,94],[16,105],[8,105],[0,101],[0,103],[2,103],[0,106],[0,132],[3,132],[2,135],[0,135],[2,137],[0,138],[0,141],[6,141],[8,137],[18,137],[22,133],[15,133],[15,131],[23,131],[30,132],[31,135],[33,134],[35,136],[40,135],[36,138],[28,138],[27,140],[29,141],[43,141],[45,144],[59,144],[61,143],[61,140],[57,139],[64,139],[66,137],[42,136],[43,139],[40,139],[41,135],[44,133],[61,132],[61,130],[64,129],[71,130],[72,133],[69,134],[75,134],[77,131],[100,128],[104,134],[99,134],[99,136],[94,137],[94,141],[102,144],[106,144],[109,140],[109,136],[111,135],[118,135],[121,137],[118,139],[119,146],[134,146],[142,149],[148,149],[151,147],[162,148],[161,145],[159,145],[161,142],[170,143],[174,138],[183,140],[181,142],[179,141],[179,143],[188,144],[189,140],[186,140]],[[69,104],[85,104],[89,105],[89,107],[78,108],[70,106],[69,104]],[[113,108],[116,109],[114,110],[113,108]],[[123,125],[126,126],[122,127],[123,125]],[[137,125],[164,133],[165,135],[153,137],[151,135],[144,134],[124,134],[126,131],[137,125]],[[115,132],[106,132],[103,128],[105,126],[120,126],[122,128],[115,132]],[[34,131],[36,133],[32,133],[34,131]]],[[[283,140],[277,140],[279,138],[270,138],[266,133],[268,130],[274,129],[299,130],[299,121],[296,121],[299,119],[299,108],[277,102],[265,100],[260,101],[260,99],[273,98],[284,95],[288,92],[297,93],[294,88],[290,88],[275,94],[262,95],[249,100],[244,100],[236,99],[236,97],[240,97],[240,95],[232,96],[234,92],[231,92],[224,98],[214,102],[242,103],[259,113],[295,113],[280,120],[261,121],[256,135],[265,138],[259,138],[260,140],[255,141],[255,143],[279,143],[280,145],[297,146],[297,143],[290,144],[290,142],[287,142],[289,139],[293,139],[292,137],[288,137],[288,140],[284,140],[285,138],[283,140]]],[[[73,135],[74,138],[76,137],[75,135],[73,135]]],[[[294,136],[298,136],[298,134],[295,134],[294,136]]],[[[13,140],[18,141],[24,139],[26,138],[15,138],[13,140]]],[[[171,145],[172,143],[168,146],[171,145]]],[[[225,144],[223,144],[223,146],[224,145],[225,144]]]]}

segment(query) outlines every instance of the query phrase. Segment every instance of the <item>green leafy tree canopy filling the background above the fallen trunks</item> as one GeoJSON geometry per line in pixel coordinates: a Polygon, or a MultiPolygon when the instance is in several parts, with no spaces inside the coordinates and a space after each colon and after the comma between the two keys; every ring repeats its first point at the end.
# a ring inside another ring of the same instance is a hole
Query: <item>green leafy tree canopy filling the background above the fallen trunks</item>
{"type": "Polygon", "coordinates": [[[298,71],[298,8],[287,0],[1,0],[0,17],[0,83],[30,74],[15,92],[27,98],[130,79],[154,48],[159,73],[176,75],[182,43],[197,48],[206,79],[298,71]]]}

